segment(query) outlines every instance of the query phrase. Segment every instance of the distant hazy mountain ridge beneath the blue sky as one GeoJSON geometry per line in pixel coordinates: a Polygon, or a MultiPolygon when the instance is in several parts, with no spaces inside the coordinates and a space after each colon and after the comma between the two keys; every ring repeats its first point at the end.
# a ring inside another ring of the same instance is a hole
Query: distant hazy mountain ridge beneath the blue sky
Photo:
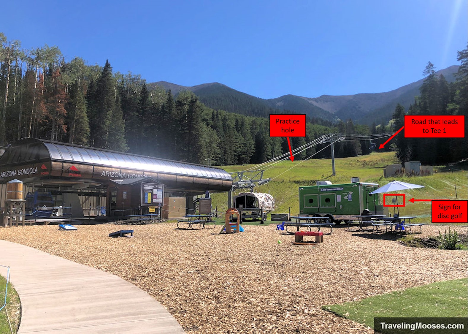
{"type": "MultiPolygon", "coordinates": [[[[444,75],[447,82],[455,80],[454,74],[458,66],[453,65],[436,72],[444,75]]],[[[198,96],[207,107],[215,110],[225,110],[248,116],[268,117],[278,112],[306,114],[311,118],[331,121],[352,119],[361,124],[380,124],[391,119],[395,106],[400,103],[406,109],[419,95],[419,87],[424,79],[383,93],[360,93],[354,95],[322,95],[304,97],[292,94],[272,99],[262,99],[247,93],[232,89],[219,82],[204,83],[196,86],[181,86],[170,82],[153,82],[148,89],[161,86],[171,89],[174,95],[189,90],[198,96]]]]}

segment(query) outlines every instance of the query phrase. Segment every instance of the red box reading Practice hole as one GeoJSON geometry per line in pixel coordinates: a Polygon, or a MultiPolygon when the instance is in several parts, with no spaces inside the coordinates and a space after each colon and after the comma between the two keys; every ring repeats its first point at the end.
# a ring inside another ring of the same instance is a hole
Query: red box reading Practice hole
{"type": "Polygon", "coordinates": [[[270,137],[305,137],[306,115],[270,115],[270,137]]]}

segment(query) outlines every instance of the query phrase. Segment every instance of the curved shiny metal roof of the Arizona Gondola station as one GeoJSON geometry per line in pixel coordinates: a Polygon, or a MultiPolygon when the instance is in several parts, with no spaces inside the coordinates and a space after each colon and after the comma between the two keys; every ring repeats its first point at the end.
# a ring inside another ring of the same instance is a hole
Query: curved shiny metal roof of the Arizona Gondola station
{"type": "Polygon", "coordinates": [[[231,175],[221,168],[194,163],[182,163],[179,161],[159,159],[150,156],[139,156],[129,153],[32,138],[17,141],[11,146],[20,148],[23,144],[29,144],[29,146],[23,146],[24,148],[11,151],[7,149],[6,154],[0,159],[0,165],[51,159],[72,163],[88,163],[116,168],[129,168],[140,171],[154,171],[174,175],[196,176],[201,178],[215,178],[232,181],[231,175]],[[47,151],[44,150],[43,145],[47,151]],[[31,147],[34,147],[34,149],[31,149],[31,147]]]}

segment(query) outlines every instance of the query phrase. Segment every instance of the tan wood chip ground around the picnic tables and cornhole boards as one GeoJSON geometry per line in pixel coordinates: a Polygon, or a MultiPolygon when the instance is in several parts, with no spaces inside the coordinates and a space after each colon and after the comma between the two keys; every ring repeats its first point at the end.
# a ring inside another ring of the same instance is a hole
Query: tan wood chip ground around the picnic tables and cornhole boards
{"type": "MultiPolygon", "coordinates": [[[[218,234],[220,228],[25,226],[0,229],[0,238],[132,282],[189,333],[373,333],[323,311],[322,305],[467,277],[466,251],[407,247],[388,234],[337,227],[314,246],[292,245],[294,236],[274,224],[245,226],[245,232],[231,235],[218,234]],[[126,229],[135,231],[134,238],[108,237],[126,229]]],[[[444,229],[424,226],[417,236],[436,236],[444,229]]],[[[455,229],[467,233],[466,227],[455,229]]]]}

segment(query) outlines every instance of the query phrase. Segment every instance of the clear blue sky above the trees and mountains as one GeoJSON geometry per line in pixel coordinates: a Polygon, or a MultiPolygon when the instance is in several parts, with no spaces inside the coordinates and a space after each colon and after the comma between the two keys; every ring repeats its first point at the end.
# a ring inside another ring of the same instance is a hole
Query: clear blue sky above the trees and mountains
{"type": "Polygon", "coordinates": [[[458,65],[467,1],[9,1],[0,31],[23,48],[184,86],[262,98],[396,89],[458,65]]]}

